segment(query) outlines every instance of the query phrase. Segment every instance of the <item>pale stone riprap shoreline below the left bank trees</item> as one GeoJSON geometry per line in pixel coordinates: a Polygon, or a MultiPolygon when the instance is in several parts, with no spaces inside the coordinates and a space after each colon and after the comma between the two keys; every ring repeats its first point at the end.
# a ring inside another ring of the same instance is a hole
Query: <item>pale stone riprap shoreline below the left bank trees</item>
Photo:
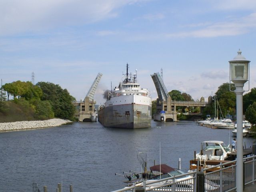
{"type": "Polygon", "coordinates": [[[64,125],[67,123],[72,123],[72,121],[67,120],[67,119],[54,118],[54,119],[42,120],[42,121],[6,122],[6,123],[0,123],[0,132],[55,127],[55,126],[60,126],[60,125],[64,125]]]}

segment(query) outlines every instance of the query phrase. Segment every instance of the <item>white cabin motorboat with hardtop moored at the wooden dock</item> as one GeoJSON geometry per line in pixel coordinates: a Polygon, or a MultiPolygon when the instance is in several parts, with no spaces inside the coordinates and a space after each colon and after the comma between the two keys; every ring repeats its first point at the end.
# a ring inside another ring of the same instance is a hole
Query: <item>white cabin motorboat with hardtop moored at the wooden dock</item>
{"type": "Polygon", "coordinates": [[[203,141],[201,142],[201,152],[196,154],[196,159],[225,160],[228,153],[231,153],[231,149],[223,141],[203,141]]]}

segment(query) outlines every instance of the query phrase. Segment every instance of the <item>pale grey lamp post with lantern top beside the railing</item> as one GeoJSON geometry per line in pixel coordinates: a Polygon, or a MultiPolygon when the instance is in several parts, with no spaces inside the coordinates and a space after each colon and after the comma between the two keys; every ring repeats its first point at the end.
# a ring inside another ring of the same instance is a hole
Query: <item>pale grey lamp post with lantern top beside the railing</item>
{"type": "Polygon", "coordinates": [[[230,63],[230,80],[235,84],[236,90],[236,191],[243,191],[243,93],[244,84],[249,80],[249,63],[237,52],[237,56],[229,61],[230,63]]]}

